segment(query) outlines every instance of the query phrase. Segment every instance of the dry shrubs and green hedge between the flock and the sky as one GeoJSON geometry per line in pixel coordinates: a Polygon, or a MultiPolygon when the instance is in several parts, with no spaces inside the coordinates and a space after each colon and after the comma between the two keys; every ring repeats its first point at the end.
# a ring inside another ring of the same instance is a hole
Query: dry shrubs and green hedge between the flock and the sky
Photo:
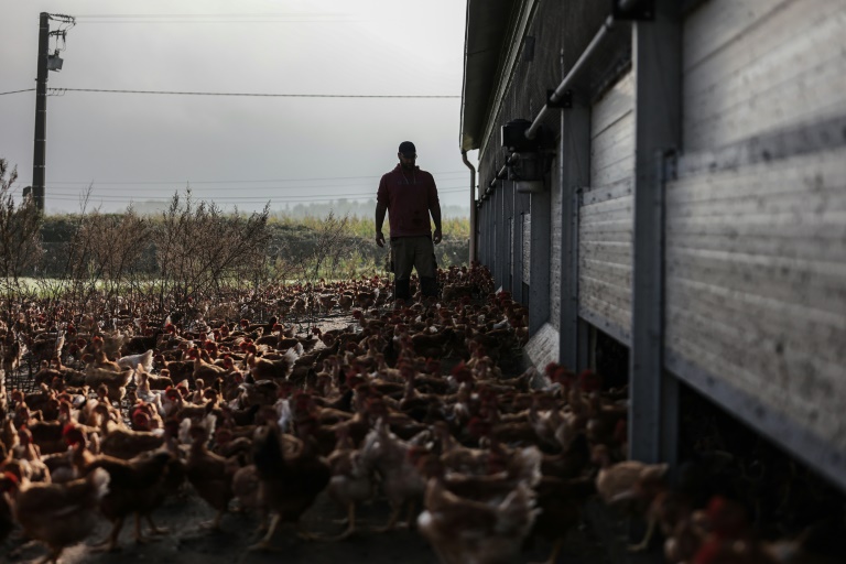
{"type": "MultiPolygon", "coordinates": [[[[15,171],[0,159],[0,304],[2,317],[35,296],[101,303],[115,311],[127,299],[163,312],[208,303],[229,290],[315,286],[319,279],[387,273],[388,256],[373,241],[372,218],[271,218],[224,213],[191,191],[166,209],[143,216],[97,209],[42,216],[30,197],[13,197],[15,171]]],[[[467,219],[443,221],[435,247],[441,265],[466,263],[467,219]]]]}

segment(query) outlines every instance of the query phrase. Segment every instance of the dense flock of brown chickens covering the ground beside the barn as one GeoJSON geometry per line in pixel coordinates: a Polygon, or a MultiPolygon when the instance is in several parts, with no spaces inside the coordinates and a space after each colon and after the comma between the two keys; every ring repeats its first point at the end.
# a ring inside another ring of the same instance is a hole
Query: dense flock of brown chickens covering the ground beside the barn
{"type": "MultiPolygon", "coordinates": [[[[347,527],[323,540],[356,533],[357,507],[380,496],[379,530],[415,527],[444,563],[511,562],[535,536],[554,562],[598,497],[660,527],[670,562],[778,562],[731,501],[693,507],[665,465],[627,459],[626,389],[555,364],[503,370],[527,311],[490,291],[485,268],[441,278],[440,301],[408,305],[379,279],[321,288],[315,306],[354,323],[305,335],[276,317],[41,328],[23,339],[42,359],[37,390],[0,386],[0,541],[22,529],[55,562],[105,518],[113,549],[130,517],[135,540],[142,521],[156,533],[155,510],[187,484],[216,511],[212,528],[232,503],[256,514],[253,550],[326,492],[347,527]]],[[[22,368],[20,329],[0,325],[8,373],[22,368]]]]}

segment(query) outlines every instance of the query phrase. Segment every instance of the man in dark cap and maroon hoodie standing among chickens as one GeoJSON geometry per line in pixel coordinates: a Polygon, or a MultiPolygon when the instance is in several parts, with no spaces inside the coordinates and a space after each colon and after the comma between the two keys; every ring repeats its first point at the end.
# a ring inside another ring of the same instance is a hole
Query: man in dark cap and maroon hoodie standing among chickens
{"type": "Polygon", "coordinates": [[[382,175],[376,197],[376,245],[384,247],[382,224],[384,213],[391,225],[391,256],[393,257],[393,296],[411,297],[411,269],[417,270],[424,296],[437,296],[435,248],[441,242],[441,203],[435,180],[416,166],[414,143],[403,141],[397,153],[399,164],[382,175]],[[429,215],[435,224],[435,231],[429,215]]]}

